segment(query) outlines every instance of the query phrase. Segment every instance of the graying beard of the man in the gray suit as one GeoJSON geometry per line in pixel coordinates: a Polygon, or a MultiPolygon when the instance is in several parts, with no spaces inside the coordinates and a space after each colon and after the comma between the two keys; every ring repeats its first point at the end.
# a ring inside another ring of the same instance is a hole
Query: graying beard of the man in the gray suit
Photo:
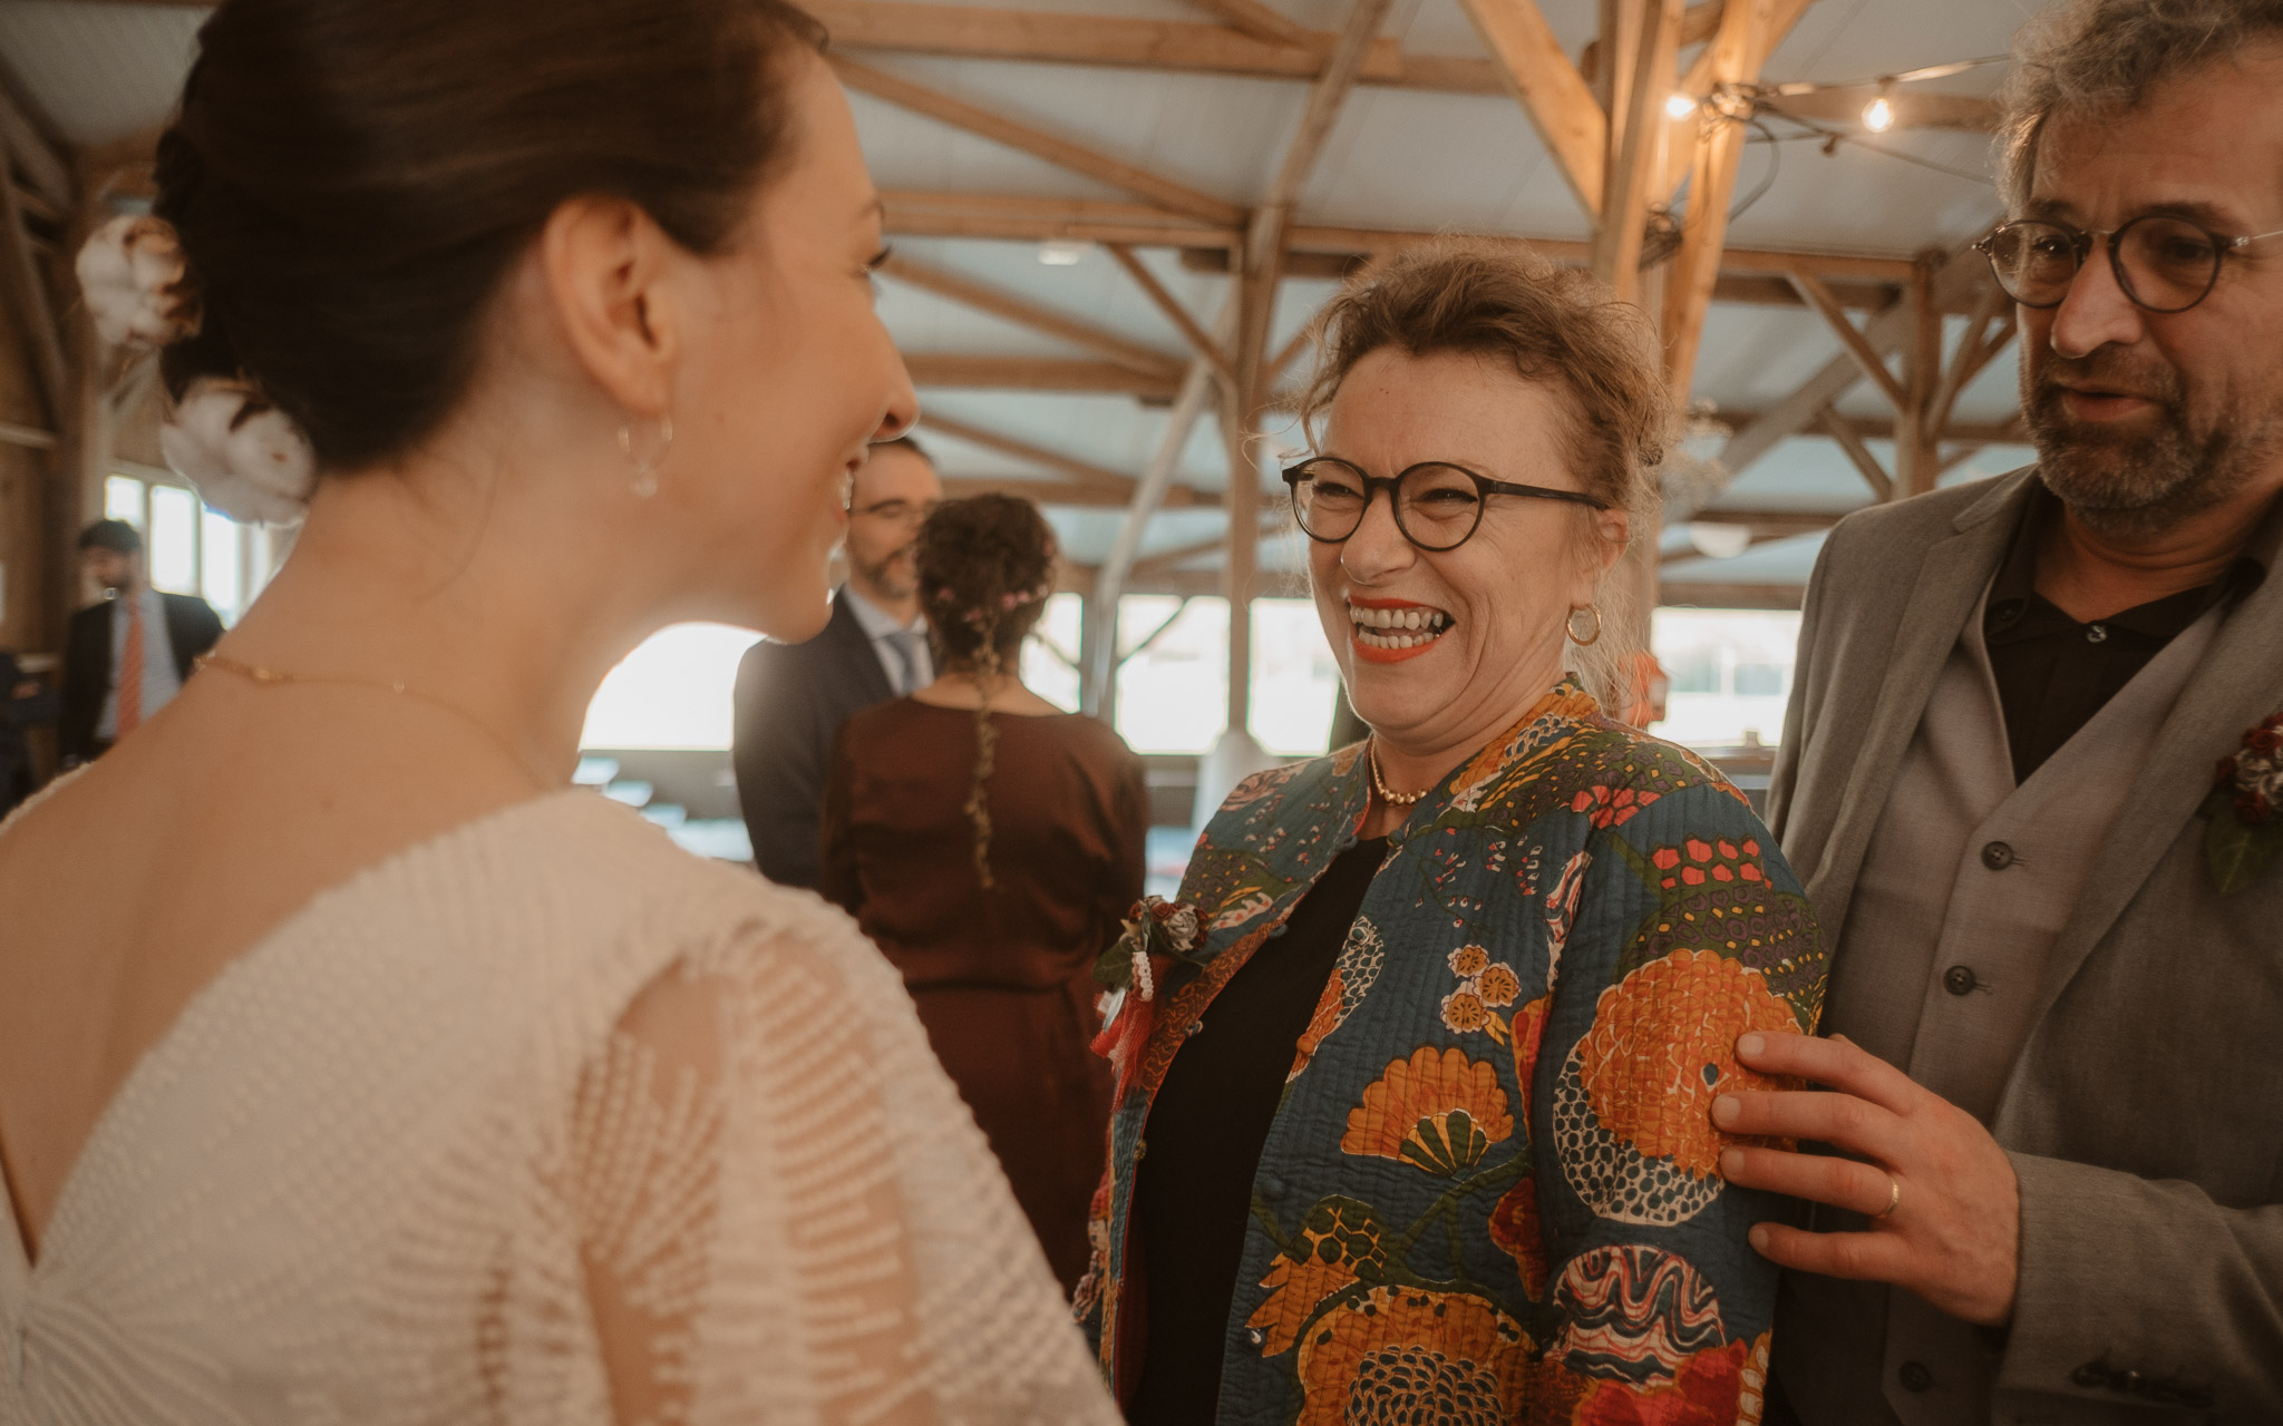
{"type": "Polygon", "coordinates": [[[2224,411],[2199,429],[2176,372],[2128,363],[2109,349],[2078,358],[2048,351],[2034,376],[2023,363],[2020,383],[2039,479],[2073,516],[2107,536],[2157,534],[2221,504],[2276,449],[2274,408],[2224,411]],[[2155,402],[2155,429],[2125,436],[2071,418],[2059,376],[2155,402]]]}

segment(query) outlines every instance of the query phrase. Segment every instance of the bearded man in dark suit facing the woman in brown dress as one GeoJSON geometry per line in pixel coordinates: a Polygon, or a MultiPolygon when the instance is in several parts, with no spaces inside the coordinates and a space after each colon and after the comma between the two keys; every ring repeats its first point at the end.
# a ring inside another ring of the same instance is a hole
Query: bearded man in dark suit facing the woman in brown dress
{"type": "Polygon", "coordinates": [[[872,447],[849,495],[849,577],[806,643],[763,639],[737,664],[731,762],[760,874],[817,885],[824,762],[849,716],[934,682],[915,545],[943,497],[909,436],[872,447]]]}

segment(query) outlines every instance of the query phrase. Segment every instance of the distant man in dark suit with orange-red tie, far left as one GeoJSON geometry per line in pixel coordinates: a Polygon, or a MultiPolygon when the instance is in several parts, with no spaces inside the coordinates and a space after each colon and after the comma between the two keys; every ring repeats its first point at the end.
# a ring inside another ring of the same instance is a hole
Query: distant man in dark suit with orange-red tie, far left
{"type": "Polygon", "coordinates": [[[73,614],[64,632],[57,744],[66,767],[103,755],[151,719],[183,691],[192,659],[221,639],[212,605],[151,589],[142,536],[126,520],[80,532],[80,568],[107,598],[73,614]]]}

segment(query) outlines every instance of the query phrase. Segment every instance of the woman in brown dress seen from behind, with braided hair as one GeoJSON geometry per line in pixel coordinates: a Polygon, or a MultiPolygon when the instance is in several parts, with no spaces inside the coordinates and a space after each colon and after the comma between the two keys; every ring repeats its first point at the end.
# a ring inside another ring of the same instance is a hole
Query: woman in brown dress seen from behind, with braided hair
{"type": "Polygon", "coordinates": [[[1016,671],[1055,582],[1027,500],[941,504],[920,607],[943,675],[856,714],[824,785],[820,890],[904,972],[1064,1289],[1110,1125],[1094,958],[1142,897],[1142,760],[1016,671]]]}

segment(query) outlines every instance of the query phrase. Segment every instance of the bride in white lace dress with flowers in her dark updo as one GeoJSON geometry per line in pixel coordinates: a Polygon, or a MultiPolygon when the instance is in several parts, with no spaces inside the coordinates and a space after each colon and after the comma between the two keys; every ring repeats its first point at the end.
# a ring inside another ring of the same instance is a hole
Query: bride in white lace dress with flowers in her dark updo
{"type": "Polygon", "coordinates": [[[84,299],[164,347],[169,459],[304,525],[0,831],[0,1421],[1114,1421],[895,972],[571,787],[653,630],[824,625],[918,415],[820,46],[203,25],[84,299]]]}

